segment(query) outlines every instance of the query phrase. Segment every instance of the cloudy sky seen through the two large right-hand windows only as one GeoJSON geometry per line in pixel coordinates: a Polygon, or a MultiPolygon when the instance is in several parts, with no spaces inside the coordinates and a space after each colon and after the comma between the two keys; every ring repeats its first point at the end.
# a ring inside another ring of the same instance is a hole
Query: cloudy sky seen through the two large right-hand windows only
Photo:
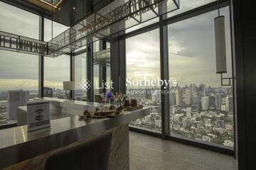
{"type": "MultiPolygon", "coordinates": [[[[228,7],[225,16],[228,73],[231,72],[230,27],[228,7]]],[[[215,74],[215,39],[213,19],[217,11],[168,26],[169,76],[179,86],[206,84],[220,86],[215,74]]],[[[127,77],[160,77],[159,29],[127,39],[127,77]]],[[[227,75],[228,76],[228,75],[227,75]]]]}

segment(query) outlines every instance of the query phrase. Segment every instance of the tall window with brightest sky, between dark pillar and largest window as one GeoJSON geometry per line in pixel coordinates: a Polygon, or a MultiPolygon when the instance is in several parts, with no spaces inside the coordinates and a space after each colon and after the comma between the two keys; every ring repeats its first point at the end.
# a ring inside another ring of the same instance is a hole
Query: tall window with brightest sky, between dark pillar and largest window
{"type": "Polygon", "coordinates": [[[160,132],[160,86],[157,84],[151,86],[145,82],[145,80],[160,79],[159,29],[128,38],[126,40],[126,62],[127,97],[135,98],[142,105],[151,107],[150,115],[133,121],[130,125],[160,132]],[[142,81],[142,84],[139,84],[139,81],[142,81]]]}

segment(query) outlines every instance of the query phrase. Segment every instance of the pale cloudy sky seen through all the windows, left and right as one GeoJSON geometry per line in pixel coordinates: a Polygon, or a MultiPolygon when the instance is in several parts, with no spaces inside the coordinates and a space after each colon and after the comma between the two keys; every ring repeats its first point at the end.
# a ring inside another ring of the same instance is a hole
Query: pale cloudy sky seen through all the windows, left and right
{"type": "MultiPolygon", "coordinates": [[[[181,9],[170,13],[174,15],[193,6],[200,6],[212,0],[181,0],[181,9]],[[188,6],[188,4],[190,4],[188,6]]],[[[228,27],[228,8],[221,11],[226,16],[228,67],[230,68],[230,35],[228,27]]],[[[217,12],[191,18],[169,26],[169,67],[170,77],[178,84],[205,83],[220,86],[220,76],[215,74],[215,45],[213,18],[217,12]]],[[[0,2],[0,30],[38,39],[38,16],[0,2]],[[4,24],[3,24],[4,23],[4,24]]],[[[51,22],[46,21],[45,40],[51,38],[51,22]]],[[[53,36],[68,27],[53,24],[53,36]]],[[[82,60],[81,57],[81,61],[82,60]]],[[[70,77],[68,56],[45,59],[46,86],[62,86],[62,81],[70,77]]],[[[77,62],[82,70],[82,65],[77,62]]],[[[82,72],[82,71],[81,71],[82,72]]],[[[230,69],[229,69],[230,72],[230,69]]],[[[95,73],[97,74],[97,72],[95,73]]],[[[127,39],[127,77],[155,79],[160,76],[159,30],[137,35],[127,39]]],[[[81,73],[81,76],[85,74],[81,73]]],[[[0,50],[0,90],[37,89],[38,56],[0,50]]]]}

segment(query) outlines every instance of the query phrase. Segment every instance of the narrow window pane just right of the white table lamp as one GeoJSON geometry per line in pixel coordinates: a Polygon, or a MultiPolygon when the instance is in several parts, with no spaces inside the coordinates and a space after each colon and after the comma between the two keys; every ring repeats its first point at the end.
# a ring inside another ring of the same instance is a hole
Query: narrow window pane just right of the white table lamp
{"type": "Polygon", "coordinates": [[[87,91],[81,89],[81,83],[87,80],[86,52],[75,56],[75,99],[84,101],[87,99],[87,91]]]}

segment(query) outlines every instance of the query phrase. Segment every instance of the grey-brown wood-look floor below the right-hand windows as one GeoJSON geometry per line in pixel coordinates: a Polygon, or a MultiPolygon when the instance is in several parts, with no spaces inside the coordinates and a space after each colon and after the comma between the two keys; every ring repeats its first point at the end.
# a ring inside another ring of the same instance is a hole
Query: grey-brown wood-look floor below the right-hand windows
{"type": "Polygon", "coordinates": [[[178,142],[129,132],[130,170],[236,170],[236,159],[178,142]]]}

